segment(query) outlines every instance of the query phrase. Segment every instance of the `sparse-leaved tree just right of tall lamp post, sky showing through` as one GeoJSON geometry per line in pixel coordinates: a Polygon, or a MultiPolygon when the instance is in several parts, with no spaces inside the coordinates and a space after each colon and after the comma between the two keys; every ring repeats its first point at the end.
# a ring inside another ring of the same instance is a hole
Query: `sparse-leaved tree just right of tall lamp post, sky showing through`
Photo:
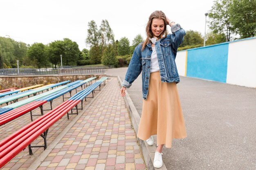
{"type": "Polygon", "coordinates": [[[234,26],[231,24],[229,6],[231,0],[216,0],[209,13],[210,29],[213,33],[225,33],[226,40],[231,40],[231,34],[234,34],[234,26]]]}

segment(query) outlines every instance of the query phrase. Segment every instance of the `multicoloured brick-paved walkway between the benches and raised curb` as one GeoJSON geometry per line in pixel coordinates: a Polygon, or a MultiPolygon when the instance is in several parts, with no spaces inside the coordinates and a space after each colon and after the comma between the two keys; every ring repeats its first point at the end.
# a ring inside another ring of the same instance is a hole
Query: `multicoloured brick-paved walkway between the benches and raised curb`
{"type": "MultiPolygon", "coordinates": [[[[145,170],[144,159],[124,99],[119,95],[119,88],[117,78],[111,78],[99,96],[36,169],[145,170]]],[[[70,123],[67,117],[60,121],[63,122],[57,122],[49,130],[49,133],[52,132],[49,136],[51,141],[70,123]]],[[[49,138],[47,137],[47,144],[49,138]]],[[[40,142],[41,139],[38,145],[40,142]]],[[[38,154],[40,157],[43,149],[35,149],[32,149],[34,155],[38,154]]],[[[22,159],[18,155],[2,169],[13,170],[14,166],[21,170],[27,169],[36,158],[28,155],[27,148],[24,152],[22,159]]]]}

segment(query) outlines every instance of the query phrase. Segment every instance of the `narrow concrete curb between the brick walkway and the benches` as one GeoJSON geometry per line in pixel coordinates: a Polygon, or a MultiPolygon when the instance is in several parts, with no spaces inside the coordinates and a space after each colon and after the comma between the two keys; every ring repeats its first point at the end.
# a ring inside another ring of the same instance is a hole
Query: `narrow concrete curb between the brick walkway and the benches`
{"type": "MultiPolygon", "coordinates": [[[[108,86],[108,84],[106,84],[106,86],[108,86]]],[[[97,95],[95,95],[94,98],[92,98],[92,100],[88,103],[88,105],[84,107],[83,110],[81,110],[81,112],[78,115],[76,115],[76,117],[74,117],[74,119],[70,122],[70,124],[68,124],[67,127],[56,137],[56,139],[54,139],[54,141],[52,141],[52,143],[49,144],[49,146],[43,151],[43,153],[40,154],[40,156],[29,166],[29,168],[27,168],[27,170],[36,170],[38,166],[40,166],[43,160],[45,160],[45,158],[49,155],[49,153],[54,149],[54,147],[58,144],[58,142],[68,132],[68,130],[72,128],[72,126],[83,115],[83,113],[85,113],[85,110],[88,109],[88,107],[92,104],[92,102],[94,102],[94,100],[97,99],[97,97],[101,94],[101,92],[106,86],[103,86],[103,88],[101,88],[101,91],[97,93],[97,95]]]]}

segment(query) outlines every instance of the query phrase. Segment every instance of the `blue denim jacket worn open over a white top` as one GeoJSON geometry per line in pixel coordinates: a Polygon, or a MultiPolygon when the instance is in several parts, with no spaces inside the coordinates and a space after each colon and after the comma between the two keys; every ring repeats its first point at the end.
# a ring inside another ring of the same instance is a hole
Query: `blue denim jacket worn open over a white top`
{"type": "MultiPolygon", "coordinates": [[[[155,49],[157,52],[161,82],[178,83],[180,82],[180,77],[177,71],[175,58],[178,46],[182,43],[186,31],[181,28],[180,24],[173,25],[171,31],[173,34],[168,34],[166,37],[161,38],[155,43],[155,49]]],[[[142,45],[143,42],[135,48],[125,79],[121,85],[129,88],[142,71],[142,94],[143,99],[146,100],[150,78],[152,48],[150,43],[145,46],[143,51],[141,51],[142,45]]]]}

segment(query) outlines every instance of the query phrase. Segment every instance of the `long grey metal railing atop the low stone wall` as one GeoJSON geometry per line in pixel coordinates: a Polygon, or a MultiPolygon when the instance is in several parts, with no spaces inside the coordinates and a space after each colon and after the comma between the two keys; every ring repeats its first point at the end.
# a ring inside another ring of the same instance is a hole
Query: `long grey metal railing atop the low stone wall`
{"type": "Polygon", "coordinates": [[[87,68],[8,68],[0,69],[1,75],[60,75],[60,74],[104,74],[103,66],[87,68]]]}

